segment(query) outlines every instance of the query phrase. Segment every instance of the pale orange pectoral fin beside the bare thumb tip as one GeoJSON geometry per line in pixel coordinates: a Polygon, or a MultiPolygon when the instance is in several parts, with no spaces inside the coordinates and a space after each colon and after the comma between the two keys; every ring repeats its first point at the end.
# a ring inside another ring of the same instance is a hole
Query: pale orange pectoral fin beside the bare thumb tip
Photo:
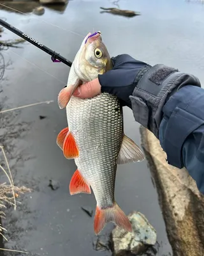
{"type": "Polygon", "coordinates": [[[70,84],[69,86],[64,87],[58,95],[58,105],[59,108],[66,108],[66,105],[68,104],[69,100],[71,99],[71,96],[75,92],[78,86],[82,84],[82,81],[80,79],[77,79],[75,84],[70,84]]]}

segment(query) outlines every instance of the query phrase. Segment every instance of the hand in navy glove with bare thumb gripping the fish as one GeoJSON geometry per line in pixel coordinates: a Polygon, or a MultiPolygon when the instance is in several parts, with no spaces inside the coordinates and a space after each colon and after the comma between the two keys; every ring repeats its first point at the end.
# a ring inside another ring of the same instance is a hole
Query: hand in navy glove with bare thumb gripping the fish
{"type": "Polygon", "coordinates": [[[116,95],[123,106],[131,106],[129,95],[133,94],[138,76],[142,76],[151,67],[142,61],[135,60],[128,54],[112,58],[113,68],[93,81],[78,87],[75,97],[89,98],[100,92],[116,95]]]}

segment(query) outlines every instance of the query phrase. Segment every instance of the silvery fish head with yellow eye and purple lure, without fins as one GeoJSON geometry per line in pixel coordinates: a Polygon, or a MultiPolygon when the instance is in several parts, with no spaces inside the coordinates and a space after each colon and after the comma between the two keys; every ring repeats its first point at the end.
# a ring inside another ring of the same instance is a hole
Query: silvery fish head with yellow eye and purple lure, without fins
{"type": "Polygon", "coordinates": [[[112,61],[101,32],[85,36],[74,65],[78,78],[83,82],[91,81],[112,69],[112,61]]]}

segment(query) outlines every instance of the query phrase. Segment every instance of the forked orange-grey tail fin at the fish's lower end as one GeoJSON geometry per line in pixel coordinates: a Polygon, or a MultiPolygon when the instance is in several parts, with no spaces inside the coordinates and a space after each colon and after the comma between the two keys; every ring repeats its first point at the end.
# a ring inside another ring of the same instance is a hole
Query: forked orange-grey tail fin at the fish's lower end
{"type": "Polygon", "coordinates": [[[96,214],[94,218],[94,232],[98,235],[101,230],[105,227],[105,225],[112,221],[120,228],[124,228],[128,232],[133,232],[131,223],[124,214],[124,212],[120,209],[119,205],[114,202],[112,207],[108,207],[105,209],[101,209],[98,205],[96,206],[96,214]]]}

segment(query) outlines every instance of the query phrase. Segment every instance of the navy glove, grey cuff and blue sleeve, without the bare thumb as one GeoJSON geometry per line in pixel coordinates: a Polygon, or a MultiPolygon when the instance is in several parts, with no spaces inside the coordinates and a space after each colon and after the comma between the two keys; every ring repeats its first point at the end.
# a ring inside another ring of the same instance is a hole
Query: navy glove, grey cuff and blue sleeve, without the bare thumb
{"type": "Polygon", "coordinates": [[[204,194],[204,90],[197,77],[153,67],[128,54],[112,58],[99,75],[101,92],[117,95],[139,122],[159,138],[169,164],[186,167],[204,194]]]}

